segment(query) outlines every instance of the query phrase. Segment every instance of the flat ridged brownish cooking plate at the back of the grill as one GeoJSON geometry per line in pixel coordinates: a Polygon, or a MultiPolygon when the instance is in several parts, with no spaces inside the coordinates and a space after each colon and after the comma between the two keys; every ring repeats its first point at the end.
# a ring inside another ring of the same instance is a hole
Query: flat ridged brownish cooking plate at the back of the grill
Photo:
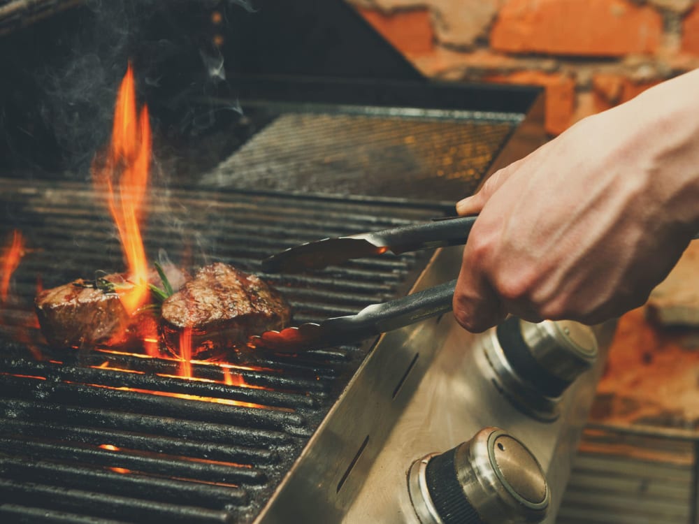
{"type": "Polygon", "coordinates": [[[451,202],[475,191],[521,119],[471,113],[394,116],[391,108],[361,109],[379,114],[281,115],[203,182],[451,202]]]}

